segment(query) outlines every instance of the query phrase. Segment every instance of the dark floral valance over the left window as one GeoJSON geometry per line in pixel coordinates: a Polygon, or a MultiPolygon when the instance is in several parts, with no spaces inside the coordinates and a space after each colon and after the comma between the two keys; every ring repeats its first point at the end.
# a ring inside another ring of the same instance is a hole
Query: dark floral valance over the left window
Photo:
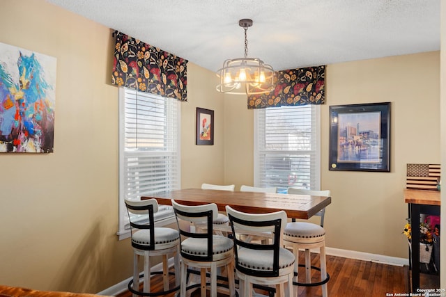
{"type": "Polygon", "coordinates": [[[187,60],[115,32],[112,83],[187,101],[187,60]]]}

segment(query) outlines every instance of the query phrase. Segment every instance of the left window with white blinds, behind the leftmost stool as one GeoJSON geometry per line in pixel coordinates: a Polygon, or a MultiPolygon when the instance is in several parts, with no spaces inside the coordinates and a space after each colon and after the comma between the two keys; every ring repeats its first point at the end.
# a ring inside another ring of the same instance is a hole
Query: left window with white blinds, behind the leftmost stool
{"type": "MultiPolygon", "coordinates": [[[[130,236],[124,199],[180,188],[180,102],[119,90],[119,230],[130,236]]],[[[158,224],[173,223],[171,207],[160,207],[158,224]]]]}

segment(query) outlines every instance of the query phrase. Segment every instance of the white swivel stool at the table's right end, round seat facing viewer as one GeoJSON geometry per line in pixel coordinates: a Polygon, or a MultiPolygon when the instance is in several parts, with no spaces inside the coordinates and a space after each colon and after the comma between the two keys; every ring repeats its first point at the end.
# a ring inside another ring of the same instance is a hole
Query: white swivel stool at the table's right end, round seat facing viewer
{"type": "MultiPolygon", "coordinates": [[[[317,196],[330,196],[330,191],[312,191],[304,190],[300,188],[289,188],[289,194],[298,195],[317,195],[317,196]]],[[[321,216],[321,225],[307,222],[291,222],[287,223],[284,230],[284,246],[291,248],[295,255],[294,275],[296,281],[294,284],[301,286],[322,286],[322,296],[328,296],[327,282],[330,280],[330,275],[327,273],[327,264],[325,261],[325,230],[323,229],[323,218],[325,215],[325,209],[320,211],[318,216],[321,216]],[[299,268],[299,248],[305,250],[305,281],[298,282],[298,268],[299,268]],[[311,254],[312,248],[319,248],[320,268],[311,266],[311,254]],[[311,278],[311,269],[314,268],[321,271],[321,282],[313,282],[311,278]]],[[[296,290],[297,291],[297,290],[296,290]]],[[[296,294],[297,296],[297,294],[296,294]]]]}

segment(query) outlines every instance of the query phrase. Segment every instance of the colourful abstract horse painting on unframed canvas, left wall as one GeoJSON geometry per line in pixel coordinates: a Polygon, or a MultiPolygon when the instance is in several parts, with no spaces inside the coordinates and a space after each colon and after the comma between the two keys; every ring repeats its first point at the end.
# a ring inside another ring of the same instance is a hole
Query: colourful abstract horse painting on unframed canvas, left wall
{"type": "Polygon", "coordinates": [[[53,152],[56,58],[0,42],[0,152],[53,152]]]}

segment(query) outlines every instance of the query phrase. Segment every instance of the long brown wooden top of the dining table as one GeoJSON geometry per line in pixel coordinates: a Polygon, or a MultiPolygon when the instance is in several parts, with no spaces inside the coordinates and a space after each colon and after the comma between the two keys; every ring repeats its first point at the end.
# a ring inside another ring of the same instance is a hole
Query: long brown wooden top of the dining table
{"type": "Polygon", "coordinates": [[[150,198],[155,198],[158,204],[164,205],[171,205],[171,199],[185,205],[212,202],[217,204],[219,211],[225,212],[226,205],[238,211],[253,214],[284,210],[289,218],[303,219],[311,218],[332,202],[331,197],[324,196],[203,190],[201,188],[185,188],[141,197],[141,199],[150,198]]]}

